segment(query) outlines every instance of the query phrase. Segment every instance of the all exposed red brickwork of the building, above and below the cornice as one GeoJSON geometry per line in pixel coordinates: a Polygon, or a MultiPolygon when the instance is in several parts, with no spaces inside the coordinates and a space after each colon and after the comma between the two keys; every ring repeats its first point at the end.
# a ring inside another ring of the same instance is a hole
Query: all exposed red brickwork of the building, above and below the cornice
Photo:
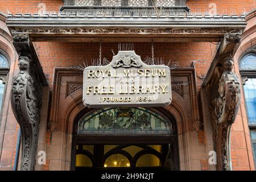
{"type": "MultiPolygon", "coordinates": [[[[63,5],[62,0],[1,0],[0,11],[3,13],[29,13],[35,14],[39,10],[43,10],[43,4],[46,5],[46,13],[57,13],[63,5]]],[[[208,14],[213,6],[210,3],[216,3],[216,11],[218,14],[242,14],[245,11],[255,9],[255,0],[227,0],[227,1],[205,1],[205,0],[188,0],[188,7],[191,13],[208,14]]],[[[82,64],[84,60],[90,60],[98,57],[98,44],[95,43],[60,43],[60,42],[40,42],[34,43],[38,52],[40,62],[44,73],[47,77],[50,88],[53,84],[53,71],[55,67],[76,67],[82,64]]],[[[141,55],[142,59],[151,56],[151,45],[148,43],[134,44],[135,51],[141,55]]],[[[111,60],[112,51],[117,53],[117,44],[103,44],[102,56],[111,60]]],[[[169,60],[179,62],[180,67],[189,67],[194,61],[198,77],[204,77],[208,72],[210,63],[216,53],[216,45],[213,43],[155,43],[155,56],[163,56],[166,63],[169,60]]],[[[197,78],[197,86],[200,88],[201,80],[197,78]]],[[[239,121],[236,121],[239,122],[239,121]]],[[[16,141],[16,137],[15,137],[16,141]]],[[[46,142],[50,142],[49,134],[46,142]]],[[[204,137],[199,133],[199,143],[204,144],[204,137]]],[[[8,153],[9,154],[9,153],[8,153]]],[[[10,153],[11,154],[11,153],[10,153]]],[[[15,148],[10,159],[13,163],[15,156],[15,148]]],[[[237,151],[232,150],[232,161],[235,169],[240,165],[243,159],[237,155],[237,151]]],[[[48,169],[48,162],[43,169],[48,169]]],[[[241,166],[241,165],[240,165],[241,166]]],[[[207,161],[201,160],[201,169],[207,170],[207,161]]]]}

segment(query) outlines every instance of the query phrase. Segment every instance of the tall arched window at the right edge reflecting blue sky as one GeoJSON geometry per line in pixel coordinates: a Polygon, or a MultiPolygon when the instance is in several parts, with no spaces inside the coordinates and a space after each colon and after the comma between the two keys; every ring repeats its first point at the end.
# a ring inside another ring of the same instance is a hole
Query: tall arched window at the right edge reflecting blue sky
{"type": "Polygon", "coordinates": [[[256,164],[256,52],[251,49],[240,60],[240,75],[243,80],[246,113],[251,134],[254,161],[256,164]]]}

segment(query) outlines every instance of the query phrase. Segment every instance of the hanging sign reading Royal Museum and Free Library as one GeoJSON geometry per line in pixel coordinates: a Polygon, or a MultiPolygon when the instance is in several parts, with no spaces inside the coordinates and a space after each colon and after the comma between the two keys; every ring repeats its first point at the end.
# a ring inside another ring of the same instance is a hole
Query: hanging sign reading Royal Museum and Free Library
{"type": "Polygon", "coordinates": [[[119,51],[105,66],[84,69],[87,107],[166,106],[172,100],[166,65],[147,65],[134,51],[119,51]]]}

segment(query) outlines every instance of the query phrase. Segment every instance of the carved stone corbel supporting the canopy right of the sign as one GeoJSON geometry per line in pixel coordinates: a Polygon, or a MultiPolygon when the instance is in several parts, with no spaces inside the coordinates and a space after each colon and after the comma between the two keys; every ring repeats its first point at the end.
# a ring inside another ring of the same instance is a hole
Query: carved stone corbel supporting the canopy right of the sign
{"type": "Polygon", "coordinates": [[[240,43],[240,34],[227,34],[222,40],[205,78],[214,129],[214,147],[219,170],[232,170],[230,129],[240,105],[241,84],[234,66],[233,55],[240,43]]]}

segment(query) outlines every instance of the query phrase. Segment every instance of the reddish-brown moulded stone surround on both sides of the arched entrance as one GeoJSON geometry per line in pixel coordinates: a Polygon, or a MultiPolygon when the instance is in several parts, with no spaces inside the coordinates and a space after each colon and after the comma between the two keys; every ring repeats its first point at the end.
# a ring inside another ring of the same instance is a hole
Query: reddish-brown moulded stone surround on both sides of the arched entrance
{"type": "MultiPolygon", "coordinates": [[[[173,88],[173,103],[171,107],[165,109],[174,115],[177,122],[177,132],[179,137],[179,157],[180,169],[192,169],[191,162],[193,159],[189,154],[189,133],[196,134],[196,129],[193,127],[195,121],[199,121],[196,107],[197,100],[194,68],[181,68],[172,73],[173,88]],[[189,82],[191,84],[184,84],[189,82]],[[185,86],[184,86],[185,85],[185,86]],[[188,115],[190,117],[188,117],[188,115]]],[[[53,85],[52,109],[51,117],[48,123],[50,133],[62,133],[61,136],[61,167],[59,169],[70,169],[71,162],[71,144],[73,120],[76,115],[85,108],[82,104],[82,74],[77,72],[77,69],[55,69],[56,83],[53,85]],[[60,94],[61,93],[61,94],[60,94]]],[[[198,128],[198,127],[197,127],[198,128]]],[[[52,135],[53,136],[53,135],[52,135]]],[[[52,138],[54,140],[54,138],[52,138]]],[[[198,142],[197,142],[198,143],[198,142]]],[[[198,146],[198,144],[196,144],[198,146]]],[[[195,146],[195,147],[197,147],[195,146]]],[[[205,156],[203,157],[205,158],[205,156]]],[[[198,160],[198,159],[196,159],[198,160]]]]}

